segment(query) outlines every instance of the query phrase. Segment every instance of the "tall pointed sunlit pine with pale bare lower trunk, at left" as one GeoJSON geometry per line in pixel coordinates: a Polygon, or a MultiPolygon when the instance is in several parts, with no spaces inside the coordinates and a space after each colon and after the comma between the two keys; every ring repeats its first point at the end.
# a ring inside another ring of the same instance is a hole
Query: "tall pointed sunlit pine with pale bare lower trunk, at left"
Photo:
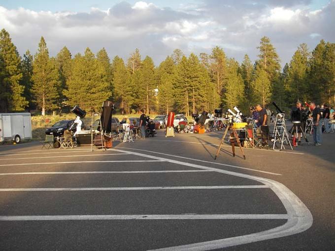
{"type": "Polygon", "coordinates": [[[46,110],[57,108],[60,76],[55,61],[49,58],[48,48],[43,37],[38,44],[38,51],[33,62],[33,95],[37,106],[46,110]]]}

